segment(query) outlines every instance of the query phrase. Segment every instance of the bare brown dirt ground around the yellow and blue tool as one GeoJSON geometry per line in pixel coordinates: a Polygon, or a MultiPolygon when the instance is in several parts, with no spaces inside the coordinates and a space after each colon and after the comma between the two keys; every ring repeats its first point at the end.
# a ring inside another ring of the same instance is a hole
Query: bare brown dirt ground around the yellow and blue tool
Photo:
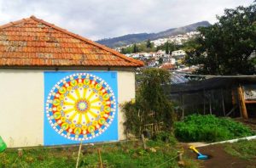
{"type": "MultiPolygon", "coordinates": [[[[191,158],[195,158],[197,160],[197,154],[192,152],[187,147],[185,147],[185,154],[189,155],[191,158]]],[[[207,154],[210,156],[209,160],[197,160],[200,162],[201,167],[205,168],[256,168],[256,162],[252,163],[247,160],[242,160],[240,158],[236,158],[230,154],[227,154],[224,151],[223,146],[221,145],[209,145],[206,147],[197,148],[201,154],[207,154]]]]}

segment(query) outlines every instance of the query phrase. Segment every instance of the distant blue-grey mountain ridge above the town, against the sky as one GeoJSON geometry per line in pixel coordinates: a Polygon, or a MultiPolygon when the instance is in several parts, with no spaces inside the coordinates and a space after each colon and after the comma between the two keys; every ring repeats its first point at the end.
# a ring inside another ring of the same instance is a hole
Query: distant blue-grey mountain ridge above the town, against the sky
{"type": "Polygon", "coordinates": [[[197,27],[209,26],[209,25],[211,25],[211,24],[208,21],[201,21],[201,22],[197,22],[195,24],[185,25],[183,27],[172,28],[172,29],[168,29],[166,31],[160,31],[158,33],[129,34],[129,35],[125,35],[125,36],[118,36],[118,37],[113,37],[113,38],[108,38],[108,39],[102,39],[102,40],[98,40],[96,42],[101,43],[110,48],[117,48],[117,47],[125,46],[125,45],[131,44],[131,43],[143,42],[148,39],[155,40],[155,39],[163,38],[163,37],[167,37],[167,36],[175,36],[178,34],[184,34],[189,31],[195,31],[197,29],[197,27]]]}

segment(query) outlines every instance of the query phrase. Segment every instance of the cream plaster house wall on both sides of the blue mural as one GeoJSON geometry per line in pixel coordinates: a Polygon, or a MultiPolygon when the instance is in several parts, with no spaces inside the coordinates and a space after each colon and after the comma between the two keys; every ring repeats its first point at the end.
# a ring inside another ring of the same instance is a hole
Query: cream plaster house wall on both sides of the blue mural
{"type": "MultiPolygon", "coordinates": [[[[43,145],[44,70],[0,70],[0,79],[0,136],[9,148],[43,145]]],[[[134,72],[118,71],[118,92],[118,106],[135,98],[134,72]]],[[[119,140],[124,120],[119,107],[119,140]]]]}

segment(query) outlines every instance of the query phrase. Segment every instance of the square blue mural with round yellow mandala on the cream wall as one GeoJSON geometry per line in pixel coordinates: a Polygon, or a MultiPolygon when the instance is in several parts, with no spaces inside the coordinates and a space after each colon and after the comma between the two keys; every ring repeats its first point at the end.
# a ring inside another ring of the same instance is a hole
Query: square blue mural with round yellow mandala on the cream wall
{"type": "Polygon", "coordinates": [[[44,145],[118,140],[116,72],[44,73],[44,145]]]}

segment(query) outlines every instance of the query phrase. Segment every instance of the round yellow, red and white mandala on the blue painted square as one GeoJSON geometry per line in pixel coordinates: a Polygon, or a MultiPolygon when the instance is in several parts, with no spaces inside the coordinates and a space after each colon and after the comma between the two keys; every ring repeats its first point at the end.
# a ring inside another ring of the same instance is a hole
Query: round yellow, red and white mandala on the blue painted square
{"type": "Polygon", "coordinates": [[[73,74],[57,82],[46,103],[49,124],[61,136],[77,141],[106,131],[115,109],[115,97],[108,83],[87,73],[73,74]]]}

